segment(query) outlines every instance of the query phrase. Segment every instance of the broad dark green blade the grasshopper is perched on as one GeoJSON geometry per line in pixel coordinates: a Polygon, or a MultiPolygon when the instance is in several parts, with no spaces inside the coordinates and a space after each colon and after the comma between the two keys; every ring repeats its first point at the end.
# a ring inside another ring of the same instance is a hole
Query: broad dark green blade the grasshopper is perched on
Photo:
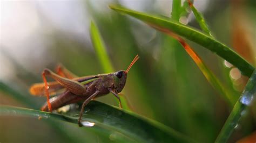
{"type": "MultiPolygon", "coordinates": [[[[83,120],[89,121],[91,128],[106,128],[120,133],[137,142],[194,142],[184,135],[156,121],[146,119],[132,112],[119,110],[112,106],[91,101],[86,106],[83,120]],[[95,123],[95,124],[93,124],[95,123]]],[[[0,106],[0,116],[22,115],[39,117],[42,119],[56,119],[77,124],[77,118],[63,116],[38,110],[0,106]]]]}

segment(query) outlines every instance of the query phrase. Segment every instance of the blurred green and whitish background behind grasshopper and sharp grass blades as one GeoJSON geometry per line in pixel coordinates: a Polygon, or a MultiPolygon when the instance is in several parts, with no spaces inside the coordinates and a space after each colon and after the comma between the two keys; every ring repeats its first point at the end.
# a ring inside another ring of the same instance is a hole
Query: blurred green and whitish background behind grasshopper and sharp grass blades
{"type": "MultiPolygon", "coordinates": [[[[89,26],[98,26],[115,69],[140,59],[127,77],[125,95],[132,111],[157,120],[201,142],[213,142],[231,107],[208,83],[184,48],[174,39],[136,19],[108,8],[130,9],[171,16],[172,1],[1,1],[0,80],[21,94],[0,92],[0,104],[39,109],[46,99],[31,96],[32,83],[42,82],[44,68],[62,63],[73,73],[104,73],[92,47],[89,26]]],[[[255,66],[256,3],[251,1],[194,1],[211,34],[255,66]]],[[[199,28],[193,14],[185,19],[199,28]]],[[[213,73],[238,98],[248,78],[210,51],[187,41],[213,73]]],[[[97,99],[117,105],[114,96],[97,99]]],[[[118,105],[117,105],[118,106],[118,105]]],[[[230,139],[234,142],[255,129],[248,118],[230,139]]],[[[29,117],[0,117],[0,142],[115,142],[91,128],[29,117]]],[[[117,142],[117,141],[116,141],[117,142]]]]}

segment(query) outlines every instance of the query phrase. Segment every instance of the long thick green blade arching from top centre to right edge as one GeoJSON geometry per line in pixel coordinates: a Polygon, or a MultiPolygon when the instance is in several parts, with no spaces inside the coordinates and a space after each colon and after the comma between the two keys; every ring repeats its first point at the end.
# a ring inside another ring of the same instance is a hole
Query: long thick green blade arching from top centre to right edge
{"type": "Polygon", "coordinates": [[[117,12],[125,13],[134,18],[142,20],[147,24],[157,25],[159,27],[166,28],[167,30],[171,30],[173,33],[183,36],[188,40],[194,41],[197,44],[221,56],[228,62],[232,63],[232,65],[241,70],[242,74],[248,77],[250,77],[253,73],[254,67],[250,65],[250,63],[248,63],[245,59],[235,53],[231,48],[215,40],[210,35],[201,33],[192,27],[173,22],[167,17],[149,15],[147,13],[125,9],[121,6],[110,6],[110,8],[117,12]]]}

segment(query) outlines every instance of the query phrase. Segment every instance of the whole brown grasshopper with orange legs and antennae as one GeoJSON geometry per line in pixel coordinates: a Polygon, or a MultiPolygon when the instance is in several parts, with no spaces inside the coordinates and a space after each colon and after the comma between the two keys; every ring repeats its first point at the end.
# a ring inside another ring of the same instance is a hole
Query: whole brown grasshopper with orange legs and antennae
{"type": "Polygon", "coordinates": [[[136,55],[130,66],[126,70],[119,70],[116,73],[98,74],[92,76],[77,77],[68,69],[62,66],[57,67],[57,74],[50,69],[44,69],[42,73],[43,83],[35,83],[30,87],[30,94],[35,96],[46,96],[47,102],[41,108],[42,111],[56,110],[64,105],[84,101],[78,119],[80,123],[84,112],[84,107],[97,97],[109,94],[110,92],[118,99],[119,106],[122,104],[118,94],[123,90],[127,73],[132,65],[139,59],[136,55]],[[47,82],[46,76],[56,81],[47,82]],[[56,95],[56,99],[51,101],[50,95],[56,95]]]}

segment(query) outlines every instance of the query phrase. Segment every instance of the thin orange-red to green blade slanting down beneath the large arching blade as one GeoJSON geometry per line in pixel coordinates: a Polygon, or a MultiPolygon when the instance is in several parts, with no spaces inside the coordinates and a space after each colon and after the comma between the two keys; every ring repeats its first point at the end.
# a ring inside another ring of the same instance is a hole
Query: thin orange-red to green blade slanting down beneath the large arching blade
{"type": "Polygon", "coordinates": [[[224,85],[221,84],[221,82],[218,80],[217,77],[214,76],[214,74],[211,72],[210,69],[207,68],[205,63],[201,60],[201,58],[197,55],[196,52],[193,51],[193,49],[188,45],[184,39],[180,38],[178,35],[172,33],[170,30],[158,27],[156,25],[150,25],[153,28],[156,28],[157,30],[166,33],[167,35],[170,35],[184,47],[185,51],[188,53],[188,55],[191,56],[193,61],[197,64],[199,69],[202,71],[204,76],[206,77],[207,81],[210,82],[210,84],[215,88],[217,91],[220,92],[220,95],[223,96],[225,101],[232,107],[235,103],[235,98],[230,93],[228,93],[225,90],[224,85]]]}

